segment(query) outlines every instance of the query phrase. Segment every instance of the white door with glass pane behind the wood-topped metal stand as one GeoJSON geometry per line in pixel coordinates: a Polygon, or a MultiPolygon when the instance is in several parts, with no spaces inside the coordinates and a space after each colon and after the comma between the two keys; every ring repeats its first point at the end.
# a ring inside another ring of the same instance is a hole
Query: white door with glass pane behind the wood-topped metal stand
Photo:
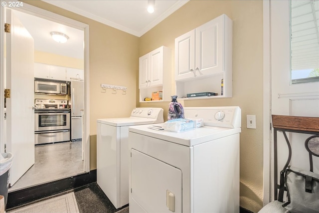
{"type": "MultiPolygon", "coordinates": [[[[290,1],[287,0],[272,0],[270,6],[272,85],[271,114],[319,117],[319,82],[292,84],[290,81],[290,46],[293,49],[295,44],[290,44],[291,35],[289,3],[290,1]]],[[[307,1],[299,1],[299,3],[305,4],[307,1]]],[[[301,11],[302,8],[299,8],[299,12],[301,11]]],[[[292,33],[294,31],[295,29],[293,28],[292,33]]],[[[294,34],[292,37],[294,40],[294,34]]],[[[300,44],[302,44],[302,42],[299,42],[298,45],[300,44]]],[[[292,164],[309,170],[309,157],[304,143],[305,139],[310,137],[310,135],[288,134],[287,136],[292,143],[292,164]]],[[[279,171],[283,168],[287,161],[287,153],[288,149],[286,142],[282,134],[279,133],[279,171]]],[[[316,171],[317,173],[319,172],[319,161],[314,162],[314,172],[316,171]]]]}

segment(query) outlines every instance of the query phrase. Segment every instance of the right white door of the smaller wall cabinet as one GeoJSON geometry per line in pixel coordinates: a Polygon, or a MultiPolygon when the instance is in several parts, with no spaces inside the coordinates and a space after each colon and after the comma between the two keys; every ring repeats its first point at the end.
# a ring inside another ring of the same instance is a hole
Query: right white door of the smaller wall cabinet
{"type": "Polygon", "coordinates": [[[163,84],[163,47],[149,53],[149,86],[159,86],[163,84]]]}

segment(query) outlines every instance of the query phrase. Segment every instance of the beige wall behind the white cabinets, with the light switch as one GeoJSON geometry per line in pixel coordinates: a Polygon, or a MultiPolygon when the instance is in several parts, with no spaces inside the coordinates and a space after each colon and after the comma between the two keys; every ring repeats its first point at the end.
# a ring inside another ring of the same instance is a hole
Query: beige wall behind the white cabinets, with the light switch
{"type": "MultiPolygon", "coordinates": [[[[140,56],[165,45],[173,50],[174,57],[176,37],[223,13],[233,20],[233,97],[182,104],[241,108],[240,206],[258,212],[263,204],[263,2],[191,0],[140,38],[140,56]],[[247,114],[256,115],[257,129],[246,128],[247,114]]],[[[140,106],[162,107],[164,116],[167,115],[168,102],[147,102],[140,106]]]]}

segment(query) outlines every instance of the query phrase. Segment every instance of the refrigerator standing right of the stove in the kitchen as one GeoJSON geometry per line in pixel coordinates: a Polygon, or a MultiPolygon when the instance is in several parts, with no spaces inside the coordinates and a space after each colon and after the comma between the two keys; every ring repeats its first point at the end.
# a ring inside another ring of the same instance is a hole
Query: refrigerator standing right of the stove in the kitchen
{"type": "Polygon", "coordinates": [[[84,81],[71,79],[71,141],[82,140],[84,81]]]}

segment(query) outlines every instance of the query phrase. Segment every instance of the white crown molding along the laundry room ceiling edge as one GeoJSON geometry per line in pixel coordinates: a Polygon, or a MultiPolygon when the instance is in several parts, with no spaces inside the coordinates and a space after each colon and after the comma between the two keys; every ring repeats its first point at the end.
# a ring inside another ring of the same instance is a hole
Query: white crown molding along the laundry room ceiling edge
{"type": "Polygon", "coordinates": [[[160,23],[162,20],[164,20],[167,16],[169,16],[171,13],[173,13],[174,11],[176,11],[177,9],[179,9],[182,5],[184,5],[185,3],[187,3],[189,0],[178,0],[176,1],[176,3],[174,3],[170,8],[168,8],[164,13],[162,13],[157,19],[155,19],[154,21],[152,21],[149,25],[147,25],[144,29],[142,29],[140,32],[135,31],[131,28],[128,28],[126,26],[117,24],[113,21],[110,21],[108,19],[102,18],[100,16],[97,16],[95,14],[92,14],[91,12],[87,12],[84,11],[82,9],[76,8],[74,6],[71,6],[68,3],[63,2],[62,0],[42,0],[44,2],[47,2],[49,4],[58,6],[60,8],[69,10],[71,12],[77,13],[79,15],[91,18],[95,21],[98,21],[100,23],[104,23],[108,26],[112,26],[116,29],[122,30],[124,32],[130,33],[132,35],[141,37],[142,35],[144,35],[147,31],[149,31],[150,29],[152,29],[154,26],[156,26],[158,23],[160,23]]]}

